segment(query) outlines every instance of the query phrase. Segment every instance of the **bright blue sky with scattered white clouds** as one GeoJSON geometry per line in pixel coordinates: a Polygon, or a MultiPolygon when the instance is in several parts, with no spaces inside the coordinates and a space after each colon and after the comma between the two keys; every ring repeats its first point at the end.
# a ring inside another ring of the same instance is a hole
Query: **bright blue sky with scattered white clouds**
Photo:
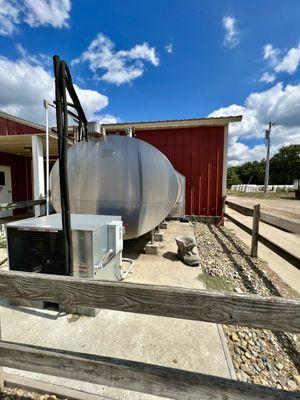
{"type": "MultiPolygon", "coordinates": [[[[52,56],[87,118],[243,115],[229,165],[300,143],[299,0],[0,0],[0,109],[44,123],[52,56]]],[[[51,116],[54,124],[54,115],[51,116]]]]}

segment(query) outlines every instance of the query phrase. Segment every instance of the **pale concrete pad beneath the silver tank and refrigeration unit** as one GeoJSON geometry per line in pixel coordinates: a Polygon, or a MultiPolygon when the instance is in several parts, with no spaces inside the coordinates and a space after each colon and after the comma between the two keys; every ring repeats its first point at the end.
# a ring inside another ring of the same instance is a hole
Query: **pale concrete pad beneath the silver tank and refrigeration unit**
{"type": "MultiPolygon", "coordinates": [[[[134,251],[126,244],[124,256],[135,257],[128,282],[203,288],[200,267],[178,260],[176,235],[193,234],[187,223],[171,221],[159,255],[134,251]]],[[[147,242],[148,238],[140,241],[147,242]]],[[[3,340],[118,357],[181,368],[221,377],[234,377],[222,328],[216,324],[100,310],[95,318],[54,311],[15,308],[1,303],[3,340]]],[[[22,367],[22,365],[20,365],[22,367]]],[[[7,369],[7,372],[65,385],[110,399],[154,400],[159,397],[85,382],[7,369]]]]}

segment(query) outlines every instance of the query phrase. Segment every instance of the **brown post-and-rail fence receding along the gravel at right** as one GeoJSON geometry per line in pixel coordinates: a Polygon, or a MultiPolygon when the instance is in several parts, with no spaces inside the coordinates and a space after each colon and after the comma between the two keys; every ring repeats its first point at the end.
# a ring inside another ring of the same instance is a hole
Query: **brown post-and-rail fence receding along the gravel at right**
{"type": "Polygon", "coordinates": [[[252,228],[249,228],[247,225],[238,221],[232,215],[224,213],[224,216],[227,219],[229,219],[229,221],[233,222],[243,231],[247,232],[249,235],[252,236],[252,242],[251,242],[252,257],[257,257],[258,242],[261,242],[263,245],[268,247],[270,250],[279,255],[281,258],[283,258],[290,264],[294,265],[296,268],[300,269],[299,257],[288,252],[283,247],[279,246],[277,243],[272,242],[270,239],[266,238],[264,235],[259,233],[259,221],[266,222],[272,226],[275,226],[276,228],[294,233],[300,233],[300,224],[285,220],[283,218],[274,217],[270,214],[262,213],[260,211],[259,204],[255,205],[253,209],[241,206],[240,204],[232,203],[231,201],[225,201],[225,204],[232,210],[235,210],[242,215],[253,217],[252,228]]]}

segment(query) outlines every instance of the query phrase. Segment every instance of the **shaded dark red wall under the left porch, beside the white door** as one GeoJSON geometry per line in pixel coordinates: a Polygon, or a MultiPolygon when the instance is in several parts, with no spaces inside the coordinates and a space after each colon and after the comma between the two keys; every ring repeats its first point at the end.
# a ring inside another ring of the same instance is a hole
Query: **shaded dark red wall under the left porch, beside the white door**
{"type": "MultiPolygon", "coordinates": [[[[11,167],[13,201],[31,200],[31,158],[0,152],[0,165],[11,167]]],[[[15,210],[15,213],[17,214],[18,210],[15,210]]]]}

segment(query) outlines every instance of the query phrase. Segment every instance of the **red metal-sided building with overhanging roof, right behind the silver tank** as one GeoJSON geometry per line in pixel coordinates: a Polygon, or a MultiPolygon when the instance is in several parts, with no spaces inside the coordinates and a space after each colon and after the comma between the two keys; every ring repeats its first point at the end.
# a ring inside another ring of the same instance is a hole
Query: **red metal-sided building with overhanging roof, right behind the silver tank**
{"type": "Polygon", "coordinates": [[[129,130],[152,144],[186,178],[187,215],[220,217],[226,195],[228,124],[241,116],[104,124],[106,134],[129,130]]]}

